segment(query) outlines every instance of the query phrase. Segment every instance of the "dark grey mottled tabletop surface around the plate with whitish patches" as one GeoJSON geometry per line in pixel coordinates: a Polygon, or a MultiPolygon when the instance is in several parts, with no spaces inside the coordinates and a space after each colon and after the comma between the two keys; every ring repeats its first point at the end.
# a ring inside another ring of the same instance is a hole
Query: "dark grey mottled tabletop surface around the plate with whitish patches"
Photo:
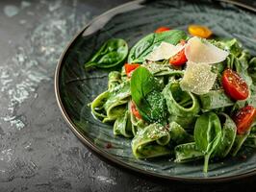
{"type": "Polygon", "coordinates": [[[91,18],[124,2],[0,1],[0,192],[255,190],[255,177],[192,184],[136,176],[91,154],[69,130],[54,95],[57,61],[91,18]]]}

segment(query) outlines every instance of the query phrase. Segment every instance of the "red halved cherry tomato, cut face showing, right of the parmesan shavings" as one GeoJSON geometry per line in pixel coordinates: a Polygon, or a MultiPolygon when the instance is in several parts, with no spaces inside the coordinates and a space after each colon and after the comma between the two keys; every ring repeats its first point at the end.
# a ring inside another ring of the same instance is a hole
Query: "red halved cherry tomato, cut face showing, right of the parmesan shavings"
{"type": "Polygon", "coordinates": [[[223,72],[222,86],[226,94],[234,100],[244,100],[249,95],[248,85],[237,72],[231,69],[223,72]]]}

